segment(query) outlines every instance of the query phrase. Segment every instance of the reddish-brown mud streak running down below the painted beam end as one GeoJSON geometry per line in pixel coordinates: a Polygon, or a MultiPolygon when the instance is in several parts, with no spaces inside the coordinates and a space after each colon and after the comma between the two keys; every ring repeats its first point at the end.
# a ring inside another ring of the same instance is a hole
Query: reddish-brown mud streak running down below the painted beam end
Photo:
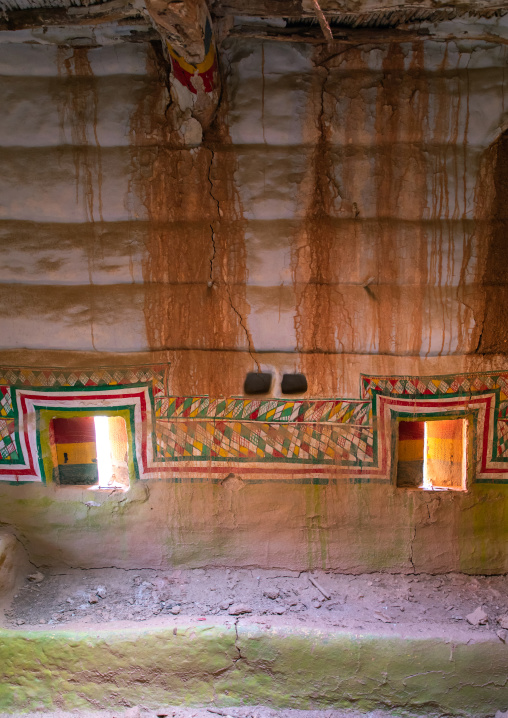
{"type": "MultiPolygon", "coordinates": [[[[165,116],[166,78],[154,51],[147,63],[154,82],[131,120],[131,191],[149,223],[143,265],[149,349],[249,349],[245,223],[226,98],[191,151],[172,126],[172,107],[165,116]]],[[[192,392],[197,377],[188,358],[176,357],[173,370],[192,392]]],[[[223,371],[210,366],[210,393],[223,393],[223,371]]]]}

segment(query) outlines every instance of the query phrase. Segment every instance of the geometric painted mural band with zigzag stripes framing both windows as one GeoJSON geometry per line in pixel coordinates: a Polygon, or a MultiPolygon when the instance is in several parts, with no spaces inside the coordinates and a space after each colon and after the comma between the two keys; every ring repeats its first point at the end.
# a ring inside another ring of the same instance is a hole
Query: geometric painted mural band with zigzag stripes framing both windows
{"type": "Polygon", "coordinates": [[[400,420],[462,418],[468,472],[508,483],[508,373],[361,376],[352,399],[177,397],[169,366],[0,368],[0,480],[49,482],[55,418],[119,416],[131,480],[394,481],[400,420]]]}

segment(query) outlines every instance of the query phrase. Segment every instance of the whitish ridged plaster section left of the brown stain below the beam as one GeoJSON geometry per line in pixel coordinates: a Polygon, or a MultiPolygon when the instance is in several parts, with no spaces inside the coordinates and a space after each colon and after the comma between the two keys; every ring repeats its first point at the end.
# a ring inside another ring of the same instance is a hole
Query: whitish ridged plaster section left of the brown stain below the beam
{"type": "Polygon", "coordinates": [[[128,145],[154,78],[140,45],[72,57],[0,43],[1,346],[139,351],[146,228],[128,145]]]}

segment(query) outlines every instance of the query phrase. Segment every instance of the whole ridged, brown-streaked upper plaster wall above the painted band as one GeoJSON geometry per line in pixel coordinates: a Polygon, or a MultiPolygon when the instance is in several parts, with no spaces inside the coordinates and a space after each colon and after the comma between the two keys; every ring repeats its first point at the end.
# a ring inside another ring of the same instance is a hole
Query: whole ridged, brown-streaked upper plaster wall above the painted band
{"type": "Polygon", "coordinates": [[[185,149],[149,45],[16,39],[0,44],[4,348],[296,351],[304,368],[316,350],[475,350],[503,46],[228,40],[216,127],[185,149]]]}

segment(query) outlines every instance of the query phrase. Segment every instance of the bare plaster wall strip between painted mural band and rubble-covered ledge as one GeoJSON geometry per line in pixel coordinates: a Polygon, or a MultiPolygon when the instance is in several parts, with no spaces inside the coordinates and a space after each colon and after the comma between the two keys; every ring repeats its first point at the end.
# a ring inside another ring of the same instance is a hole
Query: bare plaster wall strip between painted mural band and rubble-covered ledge
{"type": "Polygon", "coordinates": [[[508,571],[503,485],[437,494],[375,484],[245,483],[232,491],[227,483],[159,481],[126,493],[1,486],[0,498],[2,520],[39,567],[508,571]]]}

